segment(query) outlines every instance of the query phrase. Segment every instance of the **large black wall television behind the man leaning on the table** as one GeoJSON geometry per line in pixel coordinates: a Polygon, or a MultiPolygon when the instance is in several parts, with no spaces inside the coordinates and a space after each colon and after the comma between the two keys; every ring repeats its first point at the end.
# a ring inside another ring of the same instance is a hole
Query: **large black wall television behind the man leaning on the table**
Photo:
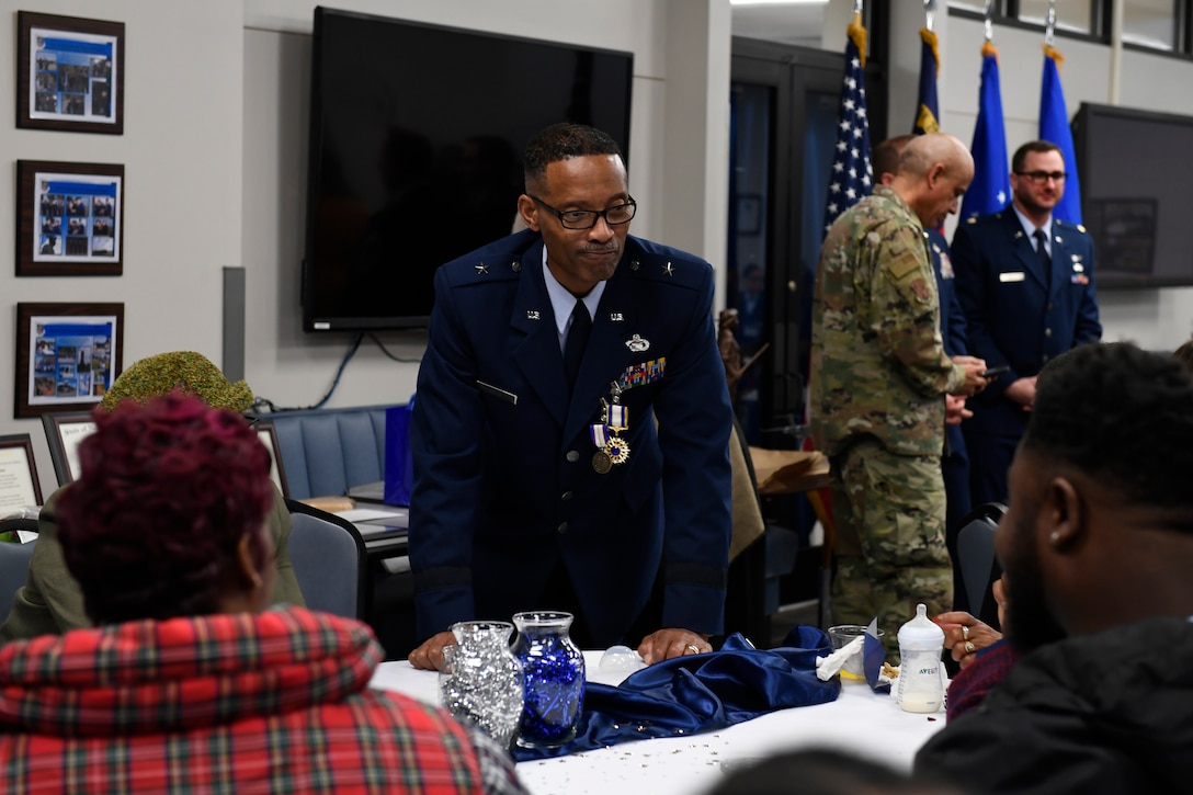
{"type": "Polygon", "coordinates": [[[629,155],[632,76],[628,53],[315,8],[303,329],[425,326],[434,270],[512,230],[534,132],[629,155]]]}

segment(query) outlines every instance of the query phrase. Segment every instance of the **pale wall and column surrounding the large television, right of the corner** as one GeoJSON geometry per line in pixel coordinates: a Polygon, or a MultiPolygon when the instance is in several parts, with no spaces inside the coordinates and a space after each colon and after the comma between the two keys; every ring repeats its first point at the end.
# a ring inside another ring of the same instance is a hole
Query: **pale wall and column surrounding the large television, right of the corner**
{"type": "MultiPolygon", "coordinates": [[[[352,334],[301,329],[310,73],[308,0],[245,2],[243,260],[249,303],[249,383],[285,406],[307,406],[329,388],[352,334]]],[[[630,191],[635,234],[724,259],[728,201],[729,6],[724,0],[356,0],[339,7],[633,53],[630,191]]],[[[416,360],[422,332],[377,335],[416,360]]],[[[418,365],[397,364],[366,339],[332,406],[404,401],[418,365]]]]}

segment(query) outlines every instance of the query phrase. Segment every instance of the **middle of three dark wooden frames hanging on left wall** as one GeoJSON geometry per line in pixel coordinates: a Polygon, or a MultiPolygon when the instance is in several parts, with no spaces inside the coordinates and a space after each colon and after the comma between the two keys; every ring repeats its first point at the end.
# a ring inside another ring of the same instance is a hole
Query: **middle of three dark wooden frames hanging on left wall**
{"type": "Polygon", "coordinates": [[[120,276],[123,251],[123,165],[17,161],[17,276],[120,276]]]}

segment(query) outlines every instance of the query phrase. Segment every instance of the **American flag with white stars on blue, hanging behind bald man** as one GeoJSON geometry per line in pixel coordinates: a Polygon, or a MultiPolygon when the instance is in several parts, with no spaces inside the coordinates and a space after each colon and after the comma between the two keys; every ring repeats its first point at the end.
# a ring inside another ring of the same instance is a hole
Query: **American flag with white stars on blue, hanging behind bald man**
{"type": "MultiPolygon", "coordinates": [[[[854,14],[845,45],[845,81],[837,110],[836,146],[833,172],[829,174],[828,201],[824,204],[824,232],[836,217],[869,196],[874,186],[870,165],[870,123],[866,121],[866,29],[861,16],[854,14]]],[[[822,235],[823,236],[823,235],[822,235]]]]}

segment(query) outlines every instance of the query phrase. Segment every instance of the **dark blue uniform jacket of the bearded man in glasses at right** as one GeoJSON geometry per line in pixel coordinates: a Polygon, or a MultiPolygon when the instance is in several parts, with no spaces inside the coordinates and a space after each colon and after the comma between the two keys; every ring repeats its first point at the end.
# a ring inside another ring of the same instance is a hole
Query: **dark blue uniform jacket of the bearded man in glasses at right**
{"type": "Polygon", "coordinates": [[[1037,375],[1050,358],[1101,339],[1093,239],[1083,227],[1052,218],[1050,283],[1008,205],[958,226],[952,253],[969,352],[987,366],[1010,366],[969,401],[973,417],[965,420],[966,432],[1019,437],[1027,412],[1003,390],[1037,375]]]}

